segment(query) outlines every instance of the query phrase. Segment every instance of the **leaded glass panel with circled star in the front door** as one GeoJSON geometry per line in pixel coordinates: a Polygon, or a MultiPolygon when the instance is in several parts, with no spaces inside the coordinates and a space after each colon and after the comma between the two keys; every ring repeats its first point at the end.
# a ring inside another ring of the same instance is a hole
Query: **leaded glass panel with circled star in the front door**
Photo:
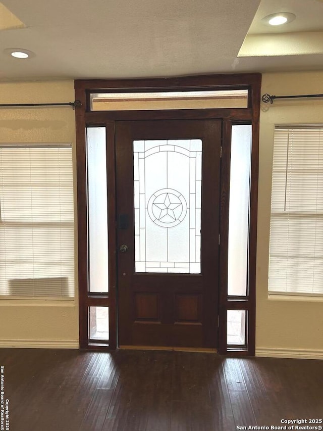
{"type": "Polygon", "coordinates": [[[201,272],[201,139],[135,140],[135,271],[201,272]]]}

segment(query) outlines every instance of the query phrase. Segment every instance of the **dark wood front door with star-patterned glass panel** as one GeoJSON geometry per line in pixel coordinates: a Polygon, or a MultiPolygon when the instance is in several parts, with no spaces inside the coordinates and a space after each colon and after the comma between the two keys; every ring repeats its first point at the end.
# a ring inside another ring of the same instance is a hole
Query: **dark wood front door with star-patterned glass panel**
{"type": "Polygon", "coordinates": [[[221,125],[116,122],[120,346],[218,346],[221,125]]]}

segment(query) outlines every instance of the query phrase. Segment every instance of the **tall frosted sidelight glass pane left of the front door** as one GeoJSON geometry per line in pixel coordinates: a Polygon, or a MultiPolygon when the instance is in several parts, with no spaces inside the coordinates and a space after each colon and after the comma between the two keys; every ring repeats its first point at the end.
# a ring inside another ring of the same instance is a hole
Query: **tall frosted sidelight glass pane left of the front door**
{"type": "Polygon", "coordinates": [[[107,293],[107,198],[105,127],[87,128],[89,292],[107,293]]]}

